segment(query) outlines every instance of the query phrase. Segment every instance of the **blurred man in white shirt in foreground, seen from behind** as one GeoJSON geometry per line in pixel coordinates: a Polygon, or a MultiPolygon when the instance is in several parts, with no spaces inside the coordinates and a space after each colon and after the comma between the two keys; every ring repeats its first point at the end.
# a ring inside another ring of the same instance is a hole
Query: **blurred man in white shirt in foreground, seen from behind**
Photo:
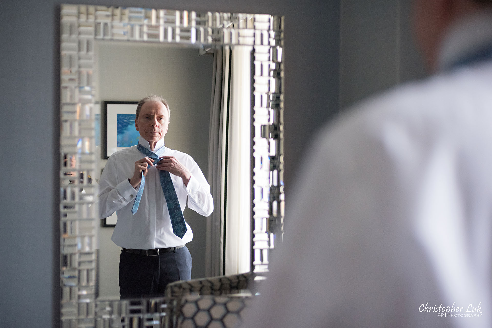
{"type": "Polygon", "coordinates": [[[415,1],[434,74],[319,132],[242,328],[492,327],[491,5],[415,1]]]}

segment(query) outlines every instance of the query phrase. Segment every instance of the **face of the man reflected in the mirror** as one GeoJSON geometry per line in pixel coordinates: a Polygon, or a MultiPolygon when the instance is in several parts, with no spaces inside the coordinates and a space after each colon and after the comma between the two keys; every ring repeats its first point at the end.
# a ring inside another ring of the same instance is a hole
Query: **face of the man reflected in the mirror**
{"type": "Polygon", "coordinates": [[[166,107],[161,102],[148,101],[140,109],[135,129],[149,143],[159,141],[166,133],[169,116],[166,107]]]}

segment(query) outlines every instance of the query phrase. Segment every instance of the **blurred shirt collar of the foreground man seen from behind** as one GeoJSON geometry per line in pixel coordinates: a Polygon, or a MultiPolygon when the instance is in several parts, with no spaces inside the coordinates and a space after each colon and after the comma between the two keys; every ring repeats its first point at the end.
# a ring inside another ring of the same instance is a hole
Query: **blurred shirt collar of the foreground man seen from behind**
{"type": "Polygon", "coordinates": [[[438,68],[450,69],[487,47],[492,47],[492,11],[469,15],[448,29],[438,55],[438,68]]]}

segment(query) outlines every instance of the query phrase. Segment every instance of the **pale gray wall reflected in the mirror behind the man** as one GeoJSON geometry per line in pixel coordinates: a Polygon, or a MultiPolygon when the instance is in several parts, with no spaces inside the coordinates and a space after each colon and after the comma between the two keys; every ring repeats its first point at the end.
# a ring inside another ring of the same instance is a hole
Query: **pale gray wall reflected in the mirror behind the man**
{"type": "MultiPolygon", "coordinates": [[[[152,43],[96,42],[96,101],[138,101],[150,94],[166,98],[171,109],[166,147],[193,157],[208,171],[208,140],[214,58],[197,48],[152,43]]],[[[103,138],[101,138],[103,140],[103,138]]],[[[102,169],[107,160],[100,160],[102,169]]],[[[95,177],[96,179],[98,177],[95,177]]],[[[192,278],[205,276],[207,219],[186,208],[193,230],[187,247],[193,258],[192,278]]],[[[111,240],[114,228],[99,229],[99,296],[119,297],[120,247],[111,240]]]]}

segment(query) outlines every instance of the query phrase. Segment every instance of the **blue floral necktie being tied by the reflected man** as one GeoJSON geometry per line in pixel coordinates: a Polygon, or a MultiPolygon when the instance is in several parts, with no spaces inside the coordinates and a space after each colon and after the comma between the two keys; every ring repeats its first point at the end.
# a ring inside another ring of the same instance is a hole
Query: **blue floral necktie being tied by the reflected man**
{"type": "MultiPolygon", "coordinates": [[[[144,154],[146,157],[149,157],[154,160],[154,164],[157,164],[161,160],[159,155],[151,152],[140,143],[137,144],[137,149],[144,154]]],[[[160,148],[157,153],[163,153],[165,150],[164,147],[160,148]]],[[[148,166],[148,165],[147,165],[148,166]]],[[[164,192],[164,197],[166,198],[167,209],[169,211],[169,217],[171,218],[171,225],[173,226],[173,232],[176,236],[183,238],[184,233],[188,228],[186,228],[186,224],[184,223],[183,212],[181,211],[180,202],[178,200],[178,195],[176,194],[176,190],[174,189],[173,181],[171,180],[171,175],[168,171],[159,170],[160,175],[160,186],[162,187],[162,191],[164,192]]],[[[137,192],[137,196],[135,197],[135,202],[133,203],[133,207],[131,208],[131,213],[135,214],[138,210],[138,205],[140,204],[140,199],[142,198],[142,193],[144,192],[145,187],[145,176],[144,172],[142,172],[142,182],[140,183],[140,188],[137,192]]]]}

